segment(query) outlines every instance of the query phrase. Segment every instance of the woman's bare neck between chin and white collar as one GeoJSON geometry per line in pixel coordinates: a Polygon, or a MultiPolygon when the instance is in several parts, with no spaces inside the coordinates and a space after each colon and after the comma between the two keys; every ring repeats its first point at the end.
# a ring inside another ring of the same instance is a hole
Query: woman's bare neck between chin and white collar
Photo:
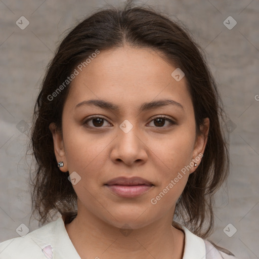
{"type": "Polygon", "coordinates": [[[184,232],[171,226],[174,211],[142,228],[120,229],[81,211],[65,225],[79,256],[84,258],[182,259],[184,232]]]}

